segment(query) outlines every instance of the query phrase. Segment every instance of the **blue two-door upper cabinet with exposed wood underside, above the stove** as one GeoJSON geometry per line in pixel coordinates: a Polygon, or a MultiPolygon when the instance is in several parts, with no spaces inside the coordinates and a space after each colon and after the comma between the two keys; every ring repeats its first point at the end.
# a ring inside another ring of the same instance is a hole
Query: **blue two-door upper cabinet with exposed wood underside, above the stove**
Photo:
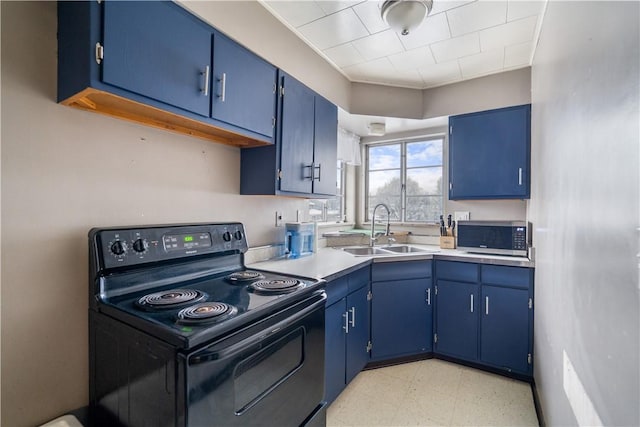
{"type": "Polygon", "coordinates": [[[276,68],[170,1],[58,3],[58,101],[240,147],[273,144],[276,68]]]}

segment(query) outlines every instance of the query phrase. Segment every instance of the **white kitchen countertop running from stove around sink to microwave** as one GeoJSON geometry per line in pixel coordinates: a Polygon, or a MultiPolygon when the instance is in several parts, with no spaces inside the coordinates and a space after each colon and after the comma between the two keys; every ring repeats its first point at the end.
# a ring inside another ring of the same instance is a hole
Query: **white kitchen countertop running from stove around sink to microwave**
{"type": "MultiPolygon", "coordinates": [[[[376,258],[373,256],[354,256],[340,250],[340,248],[321,248],[313,255],[297,259],[279,258],[268,261],[247,264],[247,267],[273,271],[294,276],[313,277],[316,279],[332,280],[343,274],[363,267],[371,262],[393,262],[424,259],[442,259],[447,261],[467,261],[482,264],[509,265],[516,267],[534,266],[533,261],[525,257],[510,257],[498,255],[472,254],[457,249],[440,249],[438,246],[410,244],[432,251],[430,253],[393,255],[376,258]]],[[[384,246],[383,246],[384,247],[384,246]]]]}

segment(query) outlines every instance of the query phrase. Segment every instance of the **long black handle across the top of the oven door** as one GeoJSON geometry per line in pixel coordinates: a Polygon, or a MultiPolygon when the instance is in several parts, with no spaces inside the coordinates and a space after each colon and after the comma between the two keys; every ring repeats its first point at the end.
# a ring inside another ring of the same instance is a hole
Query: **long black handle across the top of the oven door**
{"type": "Polygon", "coordinates": [[[258,332],[250,334],[246,338],[242,337],[241,335],[239,339],[234,339],[234,337],[231,336],[228,340],[223,340],[221,342],[213,344],[213,346],[206,347],[188,356],[188,363],[190,366],[193,366],[212,360],[221,360],[233,357],[239,352],[244,351],[256,344],[259,344],[260,342],[270,338],[277,333],[282,333],[288,327],[308,316],[310,313],[316,310],[324,310],[326,299],[327,295],[324,292],[318,293],[311,298],[299,303],[298,305],[306,306],[300,308],[295,312],[295,314],[286,317],[284,320],[273,324],[266,324],[263,328],[260,328],[258,332]]]}

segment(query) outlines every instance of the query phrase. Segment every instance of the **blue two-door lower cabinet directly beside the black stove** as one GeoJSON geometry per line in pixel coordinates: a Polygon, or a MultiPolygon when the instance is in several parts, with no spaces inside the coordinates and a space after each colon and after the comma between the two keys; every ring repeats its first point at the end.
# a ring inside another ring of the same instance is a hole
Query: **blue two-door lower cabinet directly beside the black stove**
{"type": "Polygon", "coordinates": [[[325,401],[331,403],[369,362],[370,268],[327,284],[325,401]]]}

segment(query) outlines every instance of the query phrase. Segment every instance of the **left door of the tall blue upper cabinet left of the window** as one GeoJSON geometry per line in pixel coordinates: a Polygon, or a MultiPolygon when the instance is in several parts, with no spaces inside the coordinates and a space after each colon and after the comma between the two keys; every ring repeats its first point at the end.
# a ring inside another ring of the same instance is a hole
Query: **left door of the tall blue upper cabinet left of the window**
{"type": "Polygon", "coordinates": [[[281,84],[280,191],[310,194],[315,96],[290,76],[284,75],[281,84]]]}

